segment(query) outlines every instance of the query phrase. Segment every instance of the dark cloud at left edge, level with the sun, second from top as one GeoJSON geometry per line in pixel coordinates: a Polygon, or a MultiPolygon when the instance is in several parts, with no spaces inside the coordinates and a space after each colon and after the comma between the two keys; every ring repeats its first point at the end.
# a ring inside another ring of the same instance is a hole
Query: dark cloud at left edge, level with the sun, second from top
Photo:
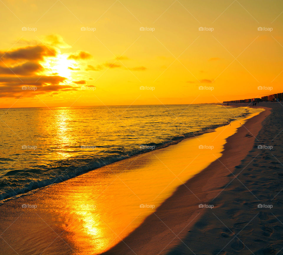
{"type": "Polygon", "coordinates": [[[44,68],[36,62],[26,62],[22,65],[6,67],[0,66],[0,75],[1,74],[11,74],[11,75],[22,75],[29,76],[39,71],[42,71],[44,68]]]}

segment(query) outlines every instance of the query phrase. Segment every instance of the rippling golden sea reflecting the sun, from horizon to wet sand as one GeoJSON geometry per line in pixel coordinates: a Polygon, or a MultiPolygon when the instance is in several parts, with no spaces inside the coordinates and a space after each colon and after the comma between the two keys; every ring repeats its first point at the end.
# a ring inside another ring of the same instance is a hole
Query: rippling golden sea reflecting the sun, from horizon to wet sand
{"type": "Polygon", "coordinates": [[[194,104],[14,108],[0,114],[3,200],[212,132],[248,111],[194,104]]]}

